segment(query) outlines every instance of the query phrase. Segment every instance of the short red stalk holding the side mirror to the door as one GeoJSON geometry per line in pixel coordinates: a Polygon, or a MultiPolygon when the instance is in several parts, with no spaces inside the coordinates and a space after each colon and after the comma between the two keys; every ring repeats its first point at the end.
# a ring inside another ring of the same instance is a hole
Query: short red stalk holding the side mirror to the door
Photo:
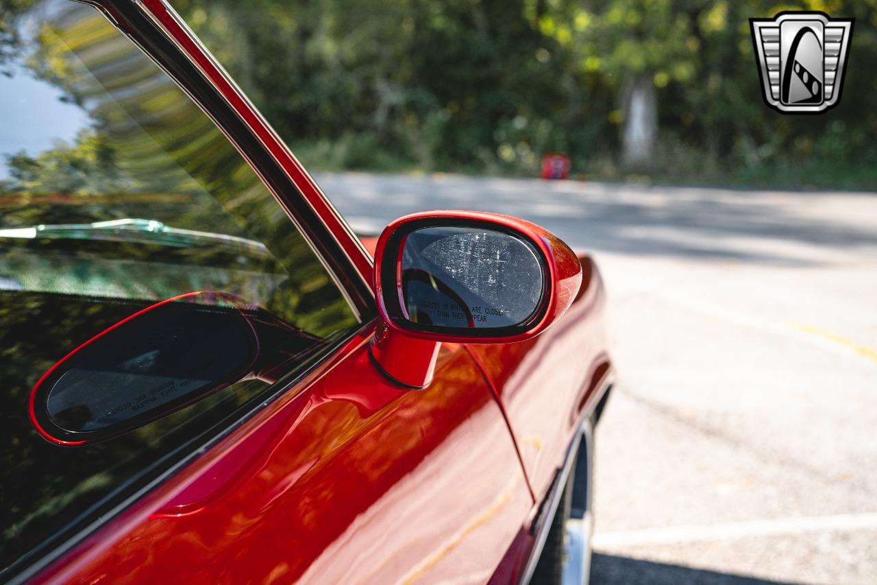
{"type": "Polygon", "coordinates": [[[381,322],[369,349],[374,365],[399,386],[422,390],[430,385],[439,343],[398,333],[381,322]]]}

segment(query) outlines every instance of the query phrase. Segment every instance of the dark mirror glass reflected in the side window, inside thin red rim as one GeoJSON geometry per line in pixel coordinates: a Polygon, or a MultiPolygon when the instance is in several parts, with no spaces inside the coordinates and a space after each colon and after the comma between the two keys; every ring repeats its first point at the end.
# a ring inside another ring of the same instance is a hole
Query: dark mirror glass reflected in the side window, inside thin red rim
{"type": "Polygon", "coordinates": [[[62,440],[100,440],[238,381],[257,352],[253,327],[234,307],[156,306],[56,365],[39,386],[38,420],[62,440]]]}

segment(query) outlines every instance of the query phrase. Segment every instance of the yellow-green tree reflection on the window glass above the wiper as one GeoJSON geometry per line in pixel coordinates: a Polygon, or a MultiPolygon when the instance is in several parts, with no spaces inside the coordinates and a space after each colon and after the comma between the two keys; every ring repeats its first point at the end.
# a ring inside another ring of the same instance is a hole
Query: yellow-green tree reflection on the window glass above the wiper
{"type": "MultiPolygon", "coordinates": [[[[91,122],[75,141],[6,157],[3,227],[133,217],[252,238],[289,267],[281,286],[253,301],[320,335],[350,325],[346,302],[302,236],[189,97],[93,9],[38,8],[18,11],[19,38],[8,46],[91,122]]],[[[189,264],[206,253],[193,249],[189,264]]]]}

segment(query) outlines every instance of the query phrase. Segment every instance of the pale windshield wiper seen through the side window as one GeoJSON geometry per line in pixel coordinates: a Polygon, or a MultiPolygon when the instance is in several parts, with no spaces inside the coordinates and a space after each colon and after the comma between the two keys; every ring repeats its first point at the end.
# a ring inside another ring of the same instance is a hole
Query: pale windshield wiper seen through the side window
{"type": "Polygon", "coordinates": [[[10,227],[0,229],[0,238],[23,238],[36,240],[39,238],[59,240],[109,240],[111,242],[143,242],[174,246],[175,248],[192,248],[221,246],[238,251],[253,252],[270,256],[270,252],[262,242],[249,240],[237,235],[199,232],[194,229],[166,226],[157,220],[124,220],[95,221],[94,223],[61,223],[31,227],[10,227]]]}

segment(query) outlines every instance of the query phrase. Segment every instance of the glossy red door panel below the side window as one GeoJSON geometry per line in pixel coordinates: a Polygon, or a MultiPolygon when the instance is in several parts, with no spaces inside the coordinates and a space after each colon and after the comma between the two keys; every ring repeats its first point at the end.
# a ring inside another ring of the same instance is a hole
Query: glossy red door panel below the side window
{"type": "Polygon", "coordinates": [[[503,416],[460,346],[410,391],[367,340],[38,581],[487,581],[534,503],[503,416]]]}

